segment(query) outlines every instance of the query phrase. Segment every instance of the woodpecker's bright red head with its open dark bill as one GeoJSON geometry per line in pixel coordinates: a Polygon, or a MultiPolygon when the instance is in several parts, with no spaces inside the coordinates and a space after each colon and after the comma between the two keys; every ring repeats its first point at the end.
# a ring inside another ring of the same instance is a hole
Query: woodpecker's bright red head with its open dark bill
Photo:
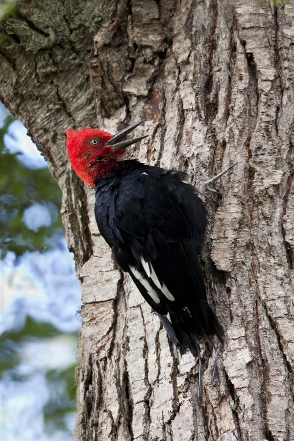
{"type": "Polygon", "coordinates": [[[66,133],[68,155],[76,174],[90,187],[106,174],[117,170],[118,160],[125,148],[145,138],[141,136],[126,141],[123,138],[137,125],[135,123],[112,136],[102,130],[86,128],[70,129],[66,133]]]}

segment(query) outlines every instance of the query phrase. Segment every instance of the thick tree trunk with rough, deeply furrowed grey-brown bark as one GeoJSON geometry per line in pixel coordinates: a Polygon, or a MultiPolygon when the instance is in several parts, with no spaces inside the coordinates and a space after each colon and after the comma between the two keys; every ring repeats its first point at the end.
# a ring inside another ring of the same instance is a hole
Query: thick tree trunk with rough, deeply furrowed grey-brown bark
{"type": "Polygon", "coordinates": [[[294,5],[255,0],[20,1],[0,33],[0,98],[64,193],[83,284],[78,440],[275,440],[294,434],[294,5]],[[70,171],[71,126],[146,118],[129,157],[187,171],[203,198],[203,267],[226,329],[197,363],[114,267],[94,193],[70,171]]]}

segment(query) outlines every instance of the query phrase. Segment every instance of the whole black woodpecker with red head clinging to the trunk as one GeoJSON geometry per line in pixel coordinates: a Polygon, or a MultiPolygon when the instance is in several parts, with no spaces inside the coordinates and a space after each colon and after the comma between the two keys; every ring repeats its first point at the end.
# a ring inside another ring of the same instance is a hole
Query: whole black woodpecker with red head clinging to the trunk
{"type": "MultiPolygon", "coordinates": [[[[180,353],[190,350],[198,357],[201,395],[198,341],[216,335],[223,343],[198,258],[207,211],[185,173],[121,159],[126,147],[145,138],[124,139],[143,121],[114,136],[93,128],[70,129],[68,155],[77,175],[95,187],[98,229],[115,261],[129,273],[180,353]]],[[[212,381],[215,369],[216,361],[212,381]]]]}

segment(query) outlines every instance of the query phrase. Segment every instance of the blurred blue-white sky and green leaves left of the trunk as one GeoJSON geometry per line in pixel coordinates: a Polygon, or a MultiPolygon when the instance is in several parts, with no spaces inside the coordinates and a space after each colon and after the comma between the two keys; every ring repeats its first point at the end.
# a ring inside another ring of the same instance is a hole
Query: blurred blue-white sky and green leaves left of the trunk
{"type": "Polygon", "coordinates": [[[72,440],[80,285],[61,192],[0,106],[0,422],[9,441],[72,440]]]}

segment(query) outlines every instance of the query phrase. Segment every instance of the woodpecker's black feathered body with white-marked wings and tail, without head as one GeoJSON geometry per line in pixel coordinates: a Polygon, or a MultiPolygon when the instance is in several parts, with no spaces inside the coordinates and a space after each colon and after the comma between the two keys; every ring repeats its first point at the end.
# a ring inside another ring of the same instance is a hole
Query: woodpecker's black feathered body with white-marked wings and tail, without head
{"type": "Polygon", "coordinates": [[[207,303],[197,256],[206,209],[184,177],[147,166],[126,174],[109,201],[108,224],[98,226],[149,305],[160,317],[170,313],[176,339],[162,321],[181,352],[189,347],[196,355],[193,337],[216,334],[222,341],[222,328],[207,303]]]}

